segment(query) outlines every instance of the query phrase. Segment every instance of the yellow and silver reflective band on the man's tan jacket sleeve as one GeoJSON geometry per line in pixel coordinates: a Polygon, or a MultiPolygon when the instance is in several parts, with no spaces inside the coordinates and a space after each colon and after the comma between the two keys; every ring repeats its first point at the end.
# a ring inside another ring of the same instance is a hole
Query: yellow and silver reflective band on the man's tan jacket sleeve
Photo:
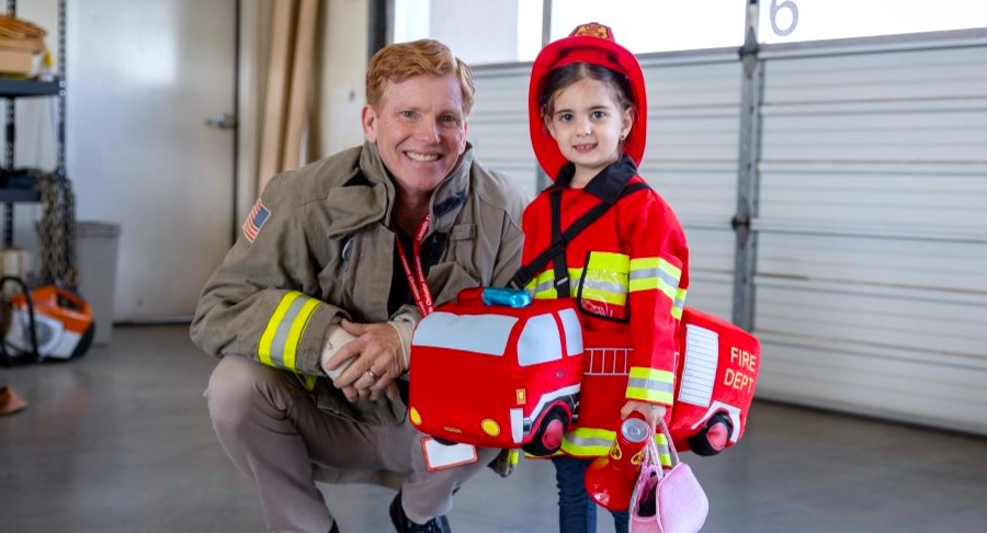
{"type": "Polygon", "coordinates": [[[292,291],[281,298],[261,334],[258,356],[261,363],[279,368],[296,370],[295,355],[308,320],[321,303],[292,291]]]}

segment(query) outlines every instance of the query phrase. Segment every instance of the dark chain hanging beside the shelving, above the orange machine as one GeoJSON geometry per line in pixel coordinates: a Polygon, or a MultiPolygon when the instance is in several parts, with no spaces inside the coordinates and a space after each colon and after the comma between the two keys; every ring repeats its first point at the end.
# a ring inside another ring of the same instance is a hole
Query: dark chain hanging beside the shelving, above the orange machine
{"type": "Polygon", "coordinates": [[[41,283],[75,290],[76,195],[68,179],[54,172],[36,172],[42,215],[37,222],[41,283]]]}

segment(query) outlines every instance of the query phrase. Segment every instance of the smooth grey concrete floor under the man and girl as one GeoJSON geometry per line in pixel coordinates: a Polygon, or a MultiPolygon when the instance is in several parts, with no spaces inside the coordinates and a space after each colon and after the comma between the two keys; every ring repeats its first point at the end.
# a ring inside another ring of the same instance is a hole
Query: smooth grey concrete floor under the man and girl
{"type": "MultiPolygon", "coordinates": [[[[31,404],[0,418],[0,532],[263,531],[206,416],[214,361],[184,326],[113,334],[78,361],[0,368],[31,404]]],[[[710,498],[705,532],[987,531],[983,439],[759,401],[737,447],[683,458],[710,498]]],[[[460,533],[556,531],[554,491],[547,462],[508,479],[484,472],[450,521],[460,533]]],[[[342,532],[392,531],[392,491],[325,492],[342,532]]]]}

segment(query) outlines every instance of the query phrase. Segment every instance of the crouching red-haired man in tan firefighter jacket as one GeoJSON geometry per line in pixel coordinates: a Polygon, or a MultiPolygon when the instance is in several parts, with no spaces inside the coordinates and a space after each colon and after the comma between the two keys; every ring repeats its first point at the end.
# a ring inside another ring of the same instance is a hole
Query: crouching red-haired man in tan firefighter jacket
{"type": "Polygon", "coordinates": [[[449,531],[453,491],[497,455],[427,466],[406,417],[417,321],[519,266],[525,199],[474,159],[473,95],[469,69],[439,42],[378,52],[366,143],[275,177],[203,290],[191,331],[223,358],[206,390],[213,427],[271,531],[339,531],[315,477],[385,473],[402,479],[397,531],[449,531]]]}

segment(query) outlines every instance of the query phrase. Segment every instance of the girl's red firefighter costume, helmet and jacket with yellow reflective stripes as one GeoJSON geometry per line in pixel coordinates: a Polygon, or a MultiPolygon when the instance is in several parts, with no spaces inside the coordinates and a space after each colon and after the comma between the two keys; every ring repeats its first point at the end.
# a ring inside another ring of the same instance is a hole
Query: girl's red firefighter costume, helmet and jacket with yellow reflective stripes
{"type": "Polygon", "coordinates": [[[650,188],[622,195],[628,185],[645,183],[637,166],[645,149],[647,109],[640,65],[613,41],[606,26],[579,26],[568,38],[546,46],[532,67],[531,139],[538,162],[555,183],[524,212],[522,264],[530,265],[553,246],[558,253],[545,268],[530,273],[533,279],[526,288],[535,298],[575,298],[587,348],[631,342],[634,349],[624,368],[626,375],[620,368],[588,372],[592,362],[587,360],[578,426],[566,433],[561,446],[574,456],[608,452],[620,427],[621,408],[628,399],[672,404],[676,329],[689,286],[685,234],[669,205],[650,188]],[[575,167],[563,157],[542,117],[546,76],[574,61],[624,73],[636,111],[622,159],[581,190],[569,188],[575,167]],[[613,205],[565,242],[563,231],[601,202],[613,205]],[[557,203],[555,208],[553,203],[557,203]]]}

